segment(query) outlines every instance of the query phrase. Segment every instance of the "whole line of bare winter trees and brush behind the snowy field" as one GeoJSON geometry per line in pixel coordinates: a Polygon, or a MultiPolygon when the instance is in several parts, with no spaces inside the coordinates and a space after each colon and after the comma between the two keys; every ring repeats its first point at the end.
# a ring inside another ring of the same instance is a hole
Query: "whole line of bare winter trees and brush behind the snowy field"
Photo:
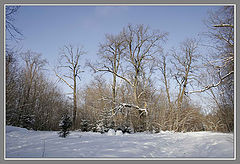
{"type": "Polygon", "coordinates": [[[71,101],[44,73],[46,60],[41,55],[21,53],[20,67],[17,54],[8,50],[7,124],[58,130],[62,116],[69,113],[72,129],[81,131],[233,131],[233,7],[220,11],[210,14],[207,22],[206,36],[214,43],[211,54],[200,55],[196,38],[165,52],[168,33],[131,24],[118,34],[107,34],[99,45],[99,60],[88,61],[85,70],[79,62],[86,54],[83,49],[64,46],[54,72],[73,91],[71,101]],[[95,78],[77,89],[86,69],[95,78]],[[191,99],[193,94],[203,93],[214,104],[207,113],[191,99]]]}

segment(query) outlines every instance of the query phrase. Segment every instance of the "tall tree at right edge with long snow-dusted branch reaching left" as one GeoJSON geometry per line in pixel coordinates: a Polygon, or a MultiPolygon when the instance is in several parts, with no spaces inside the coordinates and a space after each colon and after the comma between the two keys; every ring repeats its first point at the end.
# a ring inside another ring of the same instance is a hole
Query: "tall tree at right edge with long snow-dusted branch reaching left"
{"type": "MultiPolygon", "coordinates": [[[[208,55],[206,66],[212,70],[212,81],[202,84],[203,88],[188,93],[209,91],[218,108],[216,116],[220,124],[227,129],[234,129],[234,6],[223,6],[210,12],[206,21],[210,39],[207,45],[212,53],[208,55]]],[[[211,52],[208,51],[208,52],[211,52]]],[[[218,125],[217,125],[218,126],[218,125]]],[[[223,130],[222,130],[223,131],[223,130]]]]}

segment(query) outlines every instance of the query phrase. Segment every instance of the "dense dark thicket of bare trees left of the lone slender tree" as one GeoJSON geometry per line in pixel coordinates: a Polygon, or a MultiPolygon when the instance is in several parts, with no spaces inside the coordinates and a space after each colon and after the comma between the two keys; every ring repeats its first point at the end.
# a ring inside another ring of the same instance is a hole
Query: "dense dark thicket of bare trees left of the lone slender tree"
{"type": "Polygon", "coordinates": [[[7,125],[57,130],[59,120],[71,110],[71,105],[44,74],[46,60],[31,51],[20,55],[7,51],[5,63],[7,125]],[[17,60],[17,55],[21,60],[17,60]]]}

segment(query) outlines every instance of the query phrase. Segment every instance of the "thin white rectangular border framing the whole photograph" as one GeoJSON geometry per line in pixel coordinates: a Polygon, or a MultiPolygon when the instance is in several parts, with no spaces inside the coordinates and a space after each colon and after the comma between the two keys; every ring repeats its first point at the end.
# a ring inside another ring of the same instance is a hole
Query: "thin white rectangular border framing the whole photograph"
{"type": "Polygon", "coordinates": [[[130,4],[4,4],[4,160],[236,160],[237,157],[237,152],[236,152],[236,148],[237,148],[237,143],[236,143],[236,139],[237,139],[237,128],[236,128],[236,100],[237,100],[237,94],[236,94],[236,63],[237,63],[237,59],[236,59],[236,51],[237,51],[237,47],[236,47],[236,41],[237,41],[237,31],[236,31],[236,25],[237,25],[237,18],[236,18],[236,10],[237,10],[237,6],[236,4],[134,4],[134,3],[130,3],[130,4]],[[234,7],[234,157],[233,158],[7,158],[6,157],[6,63],[5,63],[5,59],[6,59],[6,26],[5,26],[5,15],[6,15],[6,6],[233,6],[234,7]]]}

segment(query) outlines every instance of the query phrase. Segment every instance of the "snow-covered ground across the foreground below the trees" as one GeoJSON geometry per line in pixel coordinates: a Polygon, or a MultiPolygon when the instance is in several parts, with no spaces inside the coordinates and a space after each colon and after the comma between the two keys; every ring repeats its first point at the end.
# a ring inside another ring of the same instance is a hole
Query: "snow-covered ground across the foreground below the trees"
{"type": "Polygon", "coordinates": [[[31,131],[6,126],[6,158],[233,158],[233,134],[31,131]]]}

